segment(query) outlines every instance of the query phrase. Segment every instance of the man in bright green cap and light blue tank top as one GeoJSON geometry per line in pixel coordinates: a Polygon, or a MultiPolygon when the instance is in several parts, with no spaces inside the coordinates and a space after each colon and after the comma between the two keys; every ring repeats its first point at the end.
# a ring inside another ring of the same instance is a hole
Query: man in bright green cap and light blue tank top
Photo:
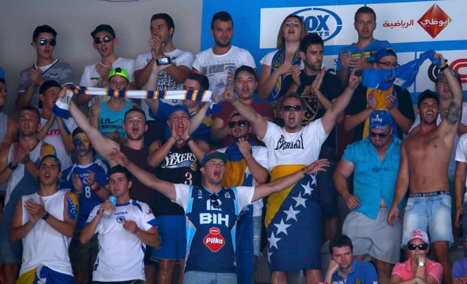
{"type": "MultiPolygon", "coordinates": [[[[129,86],[129,73],[124,68],[114,68],[109,72],[108,88],[112,90],[126,90],[129,86]]],[[[104,137],[118,142],[120,138],[127,138],[123,129],[125,113],[133,107],[131,101],[123,97],[112,96],[108,101],[92,105],[89,121],[92,127],[99,129],[104,137]]]]}

